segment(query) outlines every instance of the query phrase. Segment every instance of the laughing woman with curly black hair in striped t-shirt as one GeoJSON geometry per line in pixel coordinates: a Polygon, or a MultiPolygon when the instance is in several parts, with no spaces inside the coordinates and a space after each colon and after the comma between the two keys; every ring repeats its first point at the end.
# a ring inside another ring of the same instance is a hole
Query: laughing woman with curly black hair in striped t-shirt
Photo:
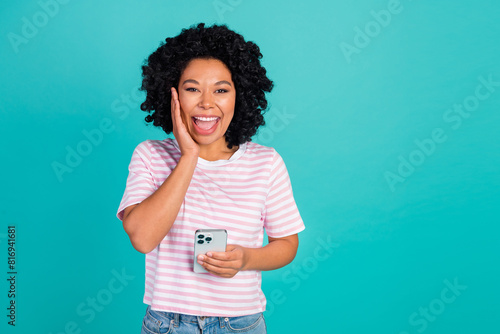
{"type": "Polygon", "coordinates": [[[293,260],[304,224],[283,160],[250,141],[273,87],[260,58],[226,26],[199,24],[143,66],[146,121],[175,139],[137,146],[117,214],[146,254],[142,333],[266,332],[261,271],[293,260]],[[193,272],[197,229],[228,232],[225,252],[197,258],[208,273],[193,272]]]}

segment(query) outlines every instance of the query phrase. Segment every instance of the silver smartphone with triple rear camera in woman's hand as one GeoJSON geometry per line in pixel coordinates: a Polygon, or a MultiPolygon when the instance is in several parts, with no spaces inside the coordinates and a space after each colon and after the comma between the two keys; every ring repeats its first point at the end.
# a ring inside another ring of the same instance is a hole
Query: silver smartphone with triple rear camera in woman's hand
{"type": "Polygon", "coordinates": [[[197,230],[194,234],[194,259],[193,271],[207,273],[197,261],[200,254],[207,252],[225,252],[227,244],[227,231],[222,229],[197,230]]]}

